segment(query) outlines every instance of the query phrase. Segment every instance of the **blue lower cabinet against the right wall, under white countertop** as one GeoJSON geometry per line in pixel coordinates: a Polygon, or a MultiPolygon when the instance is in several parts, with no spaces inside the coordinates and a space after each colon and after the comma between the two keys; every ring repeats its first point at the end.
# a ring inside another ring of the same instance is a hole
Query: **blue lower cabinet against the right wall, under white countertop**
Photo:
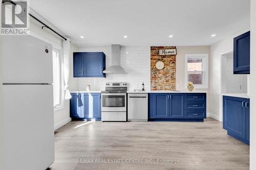
{"type": "Polygon", "coordinates": [[[227,134],[249,144],[250,100],[223,96],[223,129],[227,134]]]}

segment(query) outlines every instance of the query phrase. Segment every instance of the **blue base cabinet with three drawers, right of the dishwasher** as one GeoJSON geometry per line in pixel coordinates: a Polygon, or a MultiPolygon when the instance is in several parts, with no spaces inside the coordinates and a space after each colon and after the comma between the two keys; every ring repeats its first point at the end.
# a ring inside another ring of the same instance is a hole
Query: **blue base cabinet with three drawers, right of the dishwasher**
{"type": "Polygon", "coordinates": [[[150,93],[149,120],[203,121],[206,93],[150,93]]]}

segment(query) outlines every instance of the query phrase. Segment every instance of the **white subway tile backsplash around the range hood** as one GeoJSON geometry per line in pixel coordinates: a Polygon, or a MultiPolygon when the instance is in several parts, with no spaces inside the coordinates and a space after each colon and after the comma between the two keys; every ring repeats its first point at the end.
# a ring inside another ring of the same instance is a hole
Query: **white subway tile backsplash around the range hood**
{"type": "MultiPolygon", "coordinates": [[[[111,66],[111,46],[79,47],[79,52],[104,52],[106,67],[111,66]]],[[[150,90],[150,46],[121,46],[121,66],[127,71],[125,75],[106,75],[106,78],[79,78],[78,90],[86,90],[88,84],[92,91],[102,91],[106,82],[127,82],[128,90],[141,89],[144,82],[145,89],[150,90]],[[128,54],[126,54],[128,52],[128,54]]]]}

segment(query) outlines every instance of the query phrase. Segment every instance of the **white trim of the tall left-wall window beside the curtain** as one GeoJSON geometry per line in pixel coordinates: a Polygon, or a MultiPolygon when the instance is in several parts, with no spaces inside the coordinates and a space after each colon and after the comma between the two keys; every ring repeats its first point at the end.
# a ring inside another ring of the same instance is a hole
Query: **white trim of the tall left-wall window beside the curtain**
{"type": "Polygon", "coordinates": [[[60,104],[54,107],[54,112],[64,109],[64,77],[63,77],[63,49],[62,47],[53,45],[52,50],[59,51],[59,61],[60,61],[60,104]]]}

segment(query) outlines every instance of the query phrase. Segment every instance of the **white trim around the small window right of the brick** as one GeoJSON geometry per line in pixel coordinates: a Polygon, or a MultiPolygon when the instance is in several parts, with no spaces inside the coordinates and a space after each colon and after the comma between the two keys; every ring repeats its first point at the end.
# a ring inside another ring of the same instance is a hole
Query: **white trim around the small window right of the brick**
{"type": "Polygon", "coordinates": [[[204,74],[203,74],[203,84],[194,84],[195,89],[208,89],[208,54],[185,54],[185,89],[187,88],[187,82],[188,82],[188,71],[187,71],[187,59],[188,58],[203,58],[203,66],[204,66],[204,74]]]}

